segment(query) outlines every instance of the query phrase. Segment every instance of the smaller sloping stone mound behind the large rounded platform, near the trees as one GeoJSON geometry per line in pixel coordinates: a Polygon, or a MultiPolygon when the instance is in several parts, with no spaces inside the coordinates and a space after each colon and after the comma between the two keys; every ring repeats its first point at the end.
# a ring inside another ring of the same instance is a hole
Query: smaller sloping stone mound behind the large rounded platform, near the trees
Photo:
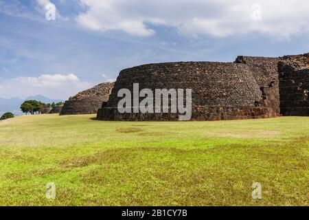
{"type": "Polygon", "coordinates": [[[60,115],[97,113],[102,103],[108,101],[111,89],[113,89],[113,83],[101,83],[78,93],[65,102],[60,115]]]}

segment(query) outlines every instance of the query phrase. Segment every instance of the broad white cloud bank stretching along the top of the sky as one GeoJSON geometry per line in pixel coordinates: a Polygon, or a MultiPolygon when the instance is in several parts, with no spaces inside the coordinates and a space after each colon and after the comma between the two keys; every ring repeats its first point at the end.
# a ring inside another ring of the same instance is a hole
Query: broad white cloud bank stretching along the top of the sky
{"type": "Polygon", "coordinates": [[[150,36],[152,25],[167,25],[181,34],[230,36],[258,32],[286,38],[309,31],[306,0],[80,0],[87,9],[77,17],[84,28],[117,30],[135,36],[150,36]],[[252,14],[258,3],[261,20],[252,14]]]}

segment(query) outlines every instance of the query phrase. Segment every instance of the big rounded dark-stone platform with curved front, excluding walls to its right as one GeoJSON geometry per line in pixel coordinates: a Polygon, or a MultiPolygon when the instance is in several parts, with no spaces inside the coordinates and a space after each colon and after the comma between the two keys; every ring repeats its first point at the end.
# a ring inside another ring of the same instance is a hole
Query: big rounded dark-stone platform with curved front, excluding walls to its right
{"type": "MultiPolygon", "coordinates": [[[[277,109],[264,103],[251,68],[243,63],[180,62],[141,65],[120,72],[99,120],[179,120],[177,113],[119,113],[119,89],[192,89],[192,120],[270,118],[277,109]]],[[[142,99],[142,98],[141,98],[142,99]]]]}

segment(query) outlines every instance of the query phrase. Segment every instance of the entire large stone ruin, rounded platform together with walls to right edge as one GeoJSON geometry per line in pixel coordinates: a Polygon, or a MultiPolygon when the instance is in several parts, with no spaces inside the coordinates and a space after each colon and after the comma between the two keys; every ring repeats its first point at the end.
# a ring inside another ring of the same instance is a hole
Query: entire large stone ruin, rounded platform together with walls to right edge
{"type": "MultiPolygon", "coordinates": [[[[179,120],[179,113],[119,113],[119,89],[192,89],[192,120],[308,115],[308,54],[284,58],[238,56],[234,63],[141,65],[120,72],[98,120],[179,120]],[[281,102],[280,102],[281,100],[281,102]]],[[[143,100],[144,98],[140,98],[143,100]]],[[[132,109],[134,106],[132,107],[132,109]]],[[[133,111],[132,111],[133,112],[133,111]]]]}

